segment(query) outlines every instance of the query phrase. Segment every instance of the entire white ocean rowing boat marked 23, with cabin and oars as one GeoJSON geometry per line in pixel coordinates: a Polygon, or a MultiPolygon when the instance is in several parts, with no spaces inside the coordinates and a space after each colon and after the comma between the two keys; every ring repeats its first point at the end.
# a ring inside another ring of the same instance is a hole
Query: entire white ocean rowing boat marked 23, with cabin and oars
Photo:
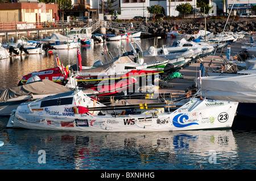
{"type": "Polygon", "coordinates": [[[175,102],[105,106],[82,90],[73,90],[20,104],[7,128],[87,132],[230,129],[237,106],[237,102],[206,98],[188,99],[176,109],[175,102]]]}

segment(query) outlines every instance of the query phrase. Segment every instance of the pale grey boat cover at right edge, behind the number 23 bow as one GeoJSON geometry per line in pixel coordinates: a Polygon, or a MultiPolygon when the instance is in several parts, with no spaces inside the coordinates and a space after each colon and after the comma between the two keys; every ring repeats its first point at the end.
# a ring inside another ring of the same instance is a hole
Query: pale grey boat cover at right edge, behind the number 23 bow
{"type": "Polygon", "coordinates": [[[208,99],[256,103],[256,74],[196,78],[202,96],[208,99]]]}

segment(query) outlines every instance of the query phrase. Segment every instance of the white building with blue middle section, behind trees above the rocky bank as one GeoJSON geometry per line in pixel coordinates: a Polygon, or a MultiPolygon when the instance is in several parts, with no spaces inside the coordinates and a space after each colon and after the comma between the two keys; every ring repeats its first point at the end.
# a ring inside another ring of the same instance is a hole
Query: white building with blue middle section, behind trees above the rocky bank
{"type": "MultiPolygon", "coordinates": [[[[255,0],[254,0],[255,1],[255,0]]],[[[193,8],[196,8],[196,0],[120,0],[121,19],[131,19],[134,16],[150,16],[146,9],[147,6],[159,5],[164,9],[165,16],[178,16],[179,11],[176,11],[176,6],[181,3],[190,3],[193,8]]]]}

